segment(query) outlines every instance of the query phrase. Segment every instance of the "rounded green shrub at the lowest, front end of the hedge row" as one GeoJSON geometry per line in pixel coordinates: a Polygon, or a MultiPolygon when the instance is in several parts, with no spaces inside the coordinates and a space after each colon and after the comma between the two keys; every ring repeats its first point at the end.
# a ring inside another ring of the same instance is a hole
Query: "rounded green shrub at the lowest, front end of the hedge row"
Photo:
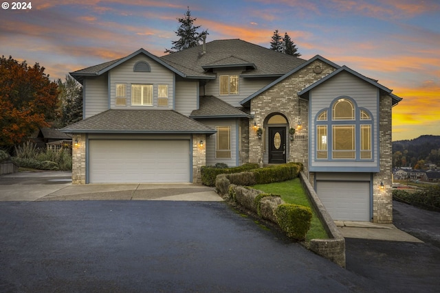
{"type": "Polygon", "coordinates": [[[275,210],[278,226],[288,237],[304,240],[311,223],[311,209],[297,204],[280,204],[275,210]]]}

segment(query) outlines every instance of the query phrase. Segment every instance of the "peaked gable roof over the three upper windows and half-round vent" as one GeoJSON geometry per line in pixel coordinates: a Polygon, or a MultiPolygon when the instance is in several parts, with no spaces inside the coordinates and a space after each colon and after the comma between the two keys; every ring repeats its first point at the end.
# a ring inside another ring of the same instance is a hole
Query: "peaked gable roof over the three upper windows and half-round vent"
{"type": "Polygon", "coordinates": [[[131,58],[133,58],[133,57],[135,57],[135,56],[137,56],[139,54],[144,54],[145,56],[148,56],[148,58],[151,58],[151,59],[155,60],[156,62],[158,62],[160,65],[163,65],[164,67],[170,69],[170,71],[173,71],[177,75],[180,75],[181,77],[186,77],[186,75],[184,73],[182,73],[181,71],[178,71],[174,67],[171,67],[166,62],[164,62],[163,60],[161,60],[160,58],[158,58],[157,56],[151,54],[150,52],[146,51],[143,48],[138,49],[137,51],[133,52],[129,56],[125,56],[123,58],[119,58],[119,59],[112,60],[112,61],[109,61],[109,62],[104,62],[104,63],[98,64],[98,65],[87,67],[85,69],[80,69],[80,70],[71,72],[70,75],[72,75],[76,80],[78,80],[78,82],[82,83],[83,79],[85,77],[87,77],[87,76],[99,76],[99,75],[102,75],[102,73],[106,73],[110,69],[113,69],[114,67],[117,67],[118,65],[122,64],[126,60],[129,60],[129,59],[131,59],[131,58]]]}

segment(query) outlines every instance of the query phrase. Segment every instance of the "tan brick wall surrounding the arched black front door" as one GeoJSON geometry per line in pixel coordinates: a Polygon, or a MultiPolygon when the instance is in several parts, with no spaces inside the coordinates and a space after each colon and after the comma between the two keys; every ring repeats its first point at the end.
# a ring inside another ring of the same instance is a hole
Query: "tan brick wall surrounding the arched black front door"
{"type": "Polygon", "coordinates": [[[249,120],[248,125],[248,129],[250,129],[250,163],[261,163],[261,160],[263,160],[263,140],[259,139],[255,131],[251,130],[254,122],[257,126],[263,128],[269,115],[281,113],[288,120],[288,128],[296,128],[293,141],[290,141],[287,133],[287,142],[289,143],[287,161],[303,163],[305,166],[304,172],[307,174],[307,166],[309,165],[309,104],[307,101],[299,99],[297,93],[335,70],[327,63],[316,60],[251,100],[250,110],[255,112],[255,115],[254,119],[249,120]],[[314,72],[314,68],[317,66],[322,69],[322,72],[314,72]],[[303,126],[301,130],[297,128],[299,121],[303,126]]]}

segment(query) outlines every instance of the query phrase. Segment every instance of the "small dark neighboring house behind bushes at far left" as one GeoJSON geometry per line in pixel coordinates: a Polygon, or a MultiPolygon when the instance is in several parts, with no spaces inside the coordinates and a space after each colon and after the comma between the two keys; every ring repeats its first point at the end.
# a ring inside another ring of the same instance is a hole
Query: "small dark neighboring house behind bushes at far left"
{"type": "Polygon", "coordinates": [[[30,141],[39,148],[50,150],[61,150],[63,145],[72,146],[72,137],[55,128],[39,128],[30,141]]]}

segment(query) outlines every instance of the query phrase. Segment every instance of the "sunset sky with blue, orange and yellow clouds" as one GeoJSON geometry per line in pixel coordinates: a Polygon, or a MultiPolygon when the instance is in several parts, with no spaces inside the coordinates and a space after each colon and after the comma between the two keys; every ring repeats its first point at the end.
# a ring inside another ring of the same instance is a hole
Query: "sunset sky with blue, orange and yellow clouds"
{"type": "Polygon", "coordinates": [[[287,32],[301,58],[319,54],[393,89],[403,98],[393,107],[393,141],[440,135],[438,0],[0,2],[0,55],[39,62],[51,80],[140,48],[164,56],[189,7],[207,42],[270,47],[275,30],[287,32]]]}

